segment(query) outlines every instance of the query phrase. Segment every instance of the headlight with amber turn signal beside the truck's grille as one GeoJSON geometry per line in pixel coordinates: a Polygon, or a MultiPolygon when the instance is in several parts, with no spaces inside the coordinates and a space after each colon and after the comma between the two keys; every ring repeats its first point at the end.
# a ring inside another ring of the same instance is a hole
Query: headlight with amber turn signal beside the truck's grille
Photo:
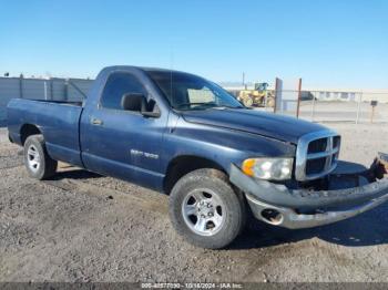
{"type": "Polygon", "coordinates": [[[293,158],[249,158],[243,162],[242,169],[246,175],[272,180],[290,179],[293,158]]]}

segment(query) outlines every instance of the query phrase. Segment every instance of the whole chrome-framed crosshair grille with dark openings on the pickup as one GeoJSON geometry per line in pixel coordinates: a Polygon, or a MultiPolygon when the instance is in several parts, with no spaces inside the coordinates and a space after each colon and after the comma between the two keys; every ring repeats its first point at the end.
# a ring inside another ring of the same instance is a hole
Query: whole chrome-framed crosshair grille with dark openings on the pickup
{"type": "Polygon", "coordinates": [[[295,177],[299,182],[328,175],[337,167],[340,136],[333,131],[306,134],[296,149],[295,177]]]}

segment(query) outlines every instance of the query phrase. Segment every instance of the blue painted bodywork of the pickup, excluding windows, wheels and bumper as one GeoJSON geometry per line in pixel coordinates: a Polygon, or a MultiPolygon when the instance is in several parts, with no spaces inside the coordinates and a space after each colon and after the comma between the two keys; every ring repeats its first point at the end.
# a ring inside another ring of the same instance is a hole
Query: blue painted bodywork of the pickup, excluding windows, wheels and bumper
{"type": "Polygon", "coordinates": [[[228,173],[232,164],[249,157],[294,157],[299,136],[321,130],[296,118],[244,108],[175,111],[146,71],[134,66],[102,70],[82,105],[11,100],[8,122],[17,144],[22,145],[23,126],[34,125],[52,158],[156,190],[163,190],[169,165],[175,158],[206,158],[228,173]],[[113,72],[137,77],[149,97],[155,100],[161,116],[102,108],[100,95],[113,72]],[[93,118],[103,124],[93,125],[93,118]]]}

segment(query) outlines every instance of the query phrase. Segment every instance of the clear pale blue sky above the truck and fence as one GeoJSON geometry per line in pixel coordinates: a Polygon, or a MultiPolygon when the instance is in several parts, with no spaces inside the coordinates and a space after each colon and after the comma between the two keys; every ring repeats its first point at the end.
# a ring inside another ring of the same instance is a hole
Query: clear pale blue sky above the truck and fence
{"type": "Polygon", "coordinates": [[[386,0],[0,0],[0,74],[173,68],[216,82],[388,89],[386,0]]]}

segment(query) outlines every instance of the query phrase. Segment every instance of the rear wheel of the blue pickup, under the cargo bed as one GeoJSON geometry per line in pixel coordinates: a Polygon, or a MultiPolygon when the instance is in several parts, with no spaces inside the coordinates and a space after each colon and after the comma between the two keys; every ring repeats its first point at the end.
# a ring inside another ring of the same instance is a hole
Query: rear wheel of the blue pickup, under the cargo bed
{"type": "Polygon", "coordinates": [[[24,165],[28,174],[39,180],[55,174],[58,162],[49,156],[43,135],[31,135],[25,139],[24,165]]]}

